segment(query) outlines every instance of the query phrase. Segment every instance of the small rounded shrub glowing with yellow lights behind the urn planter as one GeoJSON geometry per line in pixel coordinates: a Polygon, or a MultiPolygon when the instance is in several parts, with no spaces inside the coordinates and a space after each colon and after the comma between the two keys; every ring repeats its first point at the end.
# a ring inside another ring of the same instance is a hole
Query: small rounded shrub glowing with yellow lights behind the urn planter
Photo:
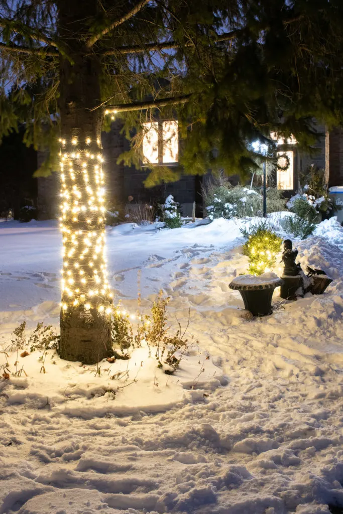
{"type": "Polygon", "coordinates": [[[241,230],[247,242],[243,253],[249,258],[249,273],[261,275],[271,271],[276,264],[276,255],[281,251],[282,239],[269,226],[267,221],[241,230]]]}

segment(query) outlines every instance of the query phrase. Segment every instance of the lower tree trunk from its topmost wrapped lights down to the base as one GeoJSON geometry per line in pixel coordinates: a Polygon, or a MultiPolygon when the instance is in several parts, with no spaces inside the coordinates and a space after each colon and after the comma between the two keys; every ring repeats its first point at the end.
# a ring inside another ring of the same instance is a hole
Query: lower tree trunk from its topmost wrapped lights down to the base
{"type": "Polygon", "coordinates": [[[100,141],[61,139],[63,234],[60,354],[93,363],[111,350],[112,293],[107,282],[104,176],[100,141]],[[76,352],[79,347],[79,354],[76,352]]]}

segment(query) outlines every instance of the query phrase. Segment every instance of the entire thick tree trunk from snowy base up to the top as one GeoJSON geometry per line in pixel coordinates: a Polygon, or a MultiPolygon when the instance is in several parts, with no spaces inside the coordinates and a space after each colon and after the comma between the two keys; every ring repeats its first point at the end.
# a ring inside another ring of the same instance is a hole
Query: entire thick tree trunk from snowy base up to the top
{"type": "MultiPolygon", "coordinates": [[[[61,358],[94,364],[111,353],[112,295],[104,255],[100,62],[74,34],[96,1],[58,0],[68,56],[60,63],[61,216],[63,234],[61,358]]],[[[80,37],[80,36],[79,36],[80,37]]]]}

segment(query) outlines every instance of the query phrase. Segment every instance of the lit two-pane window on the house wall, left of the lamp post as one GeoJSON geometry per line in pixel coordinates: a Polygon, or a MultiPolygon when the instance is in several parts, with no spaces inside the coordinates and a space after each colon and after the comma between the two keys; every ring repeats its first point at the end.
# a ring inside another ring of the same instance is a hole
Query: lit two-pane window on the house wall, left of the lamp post
{"type": "Polygon", "coordinates": [[[143,162],[178,162],[178,123],[176,120],[143,123],[143,162]]]}

